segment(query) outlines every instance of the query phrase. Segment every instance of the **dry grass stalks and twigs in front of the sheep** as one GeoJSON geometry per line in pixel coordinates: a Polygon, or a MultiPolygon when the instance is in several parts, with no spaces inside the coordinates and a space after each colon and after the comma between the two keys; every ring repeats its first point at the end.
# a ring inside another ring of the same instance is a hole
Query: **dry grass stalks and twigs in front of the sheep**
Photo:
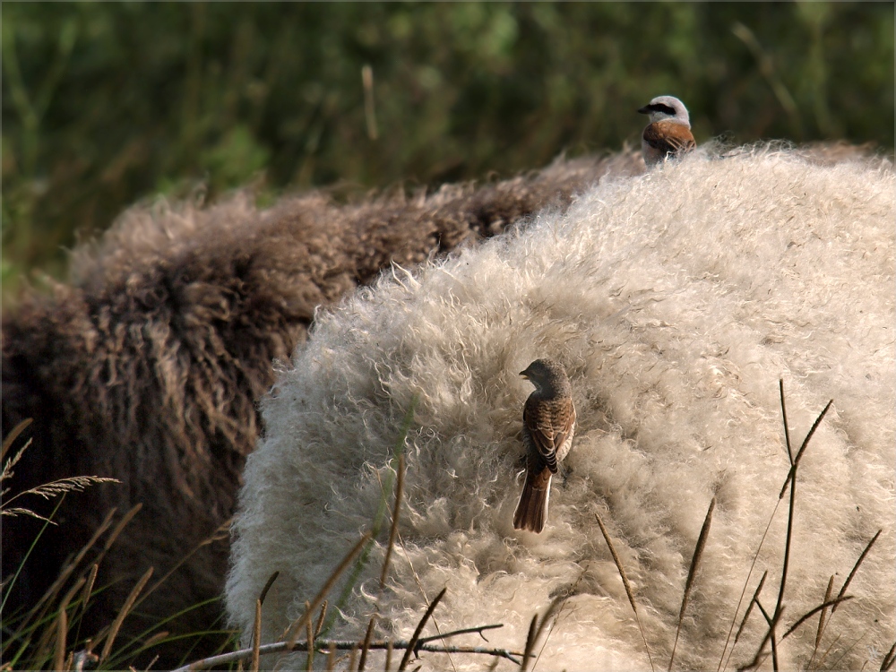
{"type": "MultiPolygon", "coordinates": [[[[717,668],[719,670],[721,668],[730,668],[731,660],[735,655],[735,649],[740,642],[740,637],[744,632],[745,625],[751,617],[755,617],[757,614],[761,615],[762,619],[765,621],[764,634],[758,646],[755,647],[752,653],[741,654],[742,656],[747,657],[747,660],[744,664],[737,666],[738,670],[758,669],[771,660],[771,669],[778,672],[781,667],[778,651],[780,643],[799,628],[805,627],[807,624],[813,622],[816,616],[818,621],[814,637],[814,648],[811,652],[808,652],[809,662],[806,665],[806,669],[817,669],[825,666],[828,668],[836,668],[840,663],[840,660],[849,652],[851,647],[847,647],[846,650],[840,652],[840,659],[832,659],[831,652],[835,650],[836,645],[843,639],[846,633],[838,633],[828,645],[827,649],[822,650],[825,633],[827,633],[828,629],[831,628],[831,624],[834,622],[834,615],[837,607],[839,607],[841,603],[853,599],[852,596],[847,593],[849,584],[856,576],[866,557],[873,551],[874,544],[882,532],[882,530],[879,530],[877,534],[874,535],[874,538],[871,538],[867,542],[866,547],[857,557],[855,564],[850,570],[846,580],[837,591],[836,596],[834,596],[835,579],[834,576],[831,576],[830,580],[827,582],[827,589],[825,590],[821,602],[805,614],[794,617],[785,630],[784,607],[785,597],[788,594],[788,575],[791,568],[791,560],[794,556],[792,530],[797,506],[796,493],[799,466],[806,454],[806,449],[810,444],[815,430],[820,426],[825,414],[831,408],[832,401],[824,407],[815,419],[813,426],[809,429],[806,438],[800,444],[796,452],[793,450],[790,441],[790,429],[787,420],[787,407],[785,403],[783,382],[780,383],[780,403],[785,443],[787,444],[788,460],[790,462],[790,469],[788,470],[787,477],[785,478],[784,485],[779,494],[779,501],[783,501],[784,496],[789,493],[788,531],[784,542],[785,546],[783,549],[780,582],[775,590],[771,603],[766,603],[763,598],[763,594],[767,594],[769,590],[767,581],[769,572],[766,569],[762,573],[762,578],[757,583],[751,599],[746,603],[743,616],[741,616],[739,625],[737,625],[737,615],[740,613],[746,590],[754,573],[755,565],[760,551],[762,550],[762,545],[765,541],[765,535],[763,535],[759,547],[757,547],[754,554],[753,563],[751,564],[745,579],[741,598],[738,601],[734,615],[732,616],[730,627],[728,629],[728,637],[725,642],[719,642],[721,649],[719,653],[719,665],[717,668]],[[765,591],[764,593],[763,590],[765,591]],[[767,604],[773,604],[773,607],[767,608],[767,604]],[[737,633],[735,633],[735,625],[737,625],[737,633]],[[781,631],[783,631],[783,634],[779,634],[781,631]],[[735,633],[733,642],[731,639],[732,633],[735,633]]],[[[333,619],[335,618],[333,612],[339,611],[339,608],[333,609],[328,616],[328,596],[336,584],[340,582],[340,578],[346,573],[349,573],[349,577],[347,584],[340,592],[338,602],[344,604],[352,594],[352,590],[357,586],[361,570],[368,562],[373,542],[383,527],[384,515],[385,512],[390,509],[388,504],[389,499],[391,498],[392,521],[389,530],[388,545],[383,556],[383,567],[379,581],[380,590],[385,589],[386,577],[389,571],[393,548],[397,543],[401,543],[397,530],[401,512],[405,472],[405,461],[402,454],[402,448],[409,427],[413,421],[415,406],[416,400],[401,424],[401,433],[395,444],[392,458],[392,478],[389,478],[386,483],[383,483],[381,505],[375,515],[375,520],[372,521],[373,525],[371,530],[363,533],[354,546],[349,549],[345,556],[343,556],[340,563],[337,564],[332,571],[329,579],[323,583],[323,586],[318,590],[314,598],[306,602],[304,613],[290,624],[287,630],[283,633],[280,642],[267,644],[262,644],[260,642],[262,632],[262,605],[268,591],[277,580],[278,573],[274,573],[271,575],[268,582],[266,582],[256,600],[254,632],[251,642],[249,642],[249,646],[247,648],[221,653],[220,655],[211,658],[195,660],[193,663],[183,668],[179,668],[177,672],[185,672],[185,670],[188,669],[194,670],[224,667],[242,669],[246,662],[249,665],[249,669],[257,670],[260,667],[261,656],[263,655],[299,650],[307,651],[307,669],[314,668],[315,661],[319,660],[319,658],[315,659],[315,656],[320,654],[324,657],[324,665],[327,670],[335,669],[337,665],[343,667],[347,666],[345,668],[351,671],[364,670],[369,664],[369,653],[374,650],[385,651],[384,669],[392,669],[392,659],[397,651],[403,651],[401,659],[398,662],[398,667],[395,668],[398,670],[408,669],[412,664],[412,660],[417,659],[421,653],[425,652],[439,652],[448,654],[449,656],[452,654],[471,654],[486,657],[487,659],[492,660],[491,665],[488,666],[489,669],[494,669],[501,659],[511,661],[514,665],[518,665],[522,671],[537,668],[540,658],[540,654],[536,653],[538,644],[540,642],[540,650],[544,650],[547,640],[556,630],[558,616],[560,616],[560,613],[564,608],[566,598],[555,599],[543,615],[535,614],[532,616],[526,640],[525,642],[521,642],[520,650],[508,650],[495,647],[458,646],[448,643],[452,637],[462,634],[478,633],[484,638],[485,635],[483,633],[500,628],[503,626],[502,624],[474,625],[469,628],[452,632],[424,636],[426,626],[430,621],[434,620],[435,612],[445,596],[446,588],[439,592],[438,595],[435,596],[435,599],[428,601],[426,612],[419,619],[418,625],[409,640],[375,640],[373,633],[375,629],[375,621],[378,617],[376,614],[371,616],[368,621],[363,639],[357,641],[338,640],[326,636],[327,628],[332,627],[333,619]],[[349,568],[351,568],[350,572],[349,568]]],[[[6,453],[9,452],[19,435],[21,435],[22,430],[27,424],[28,422],[26,421],[25,423],[22,423],[22,425],[17,426],[13,432],[6,437],[3,444],[4,457],[6,453]]],[[[22,452],[26,450],[28,446],[29,444],[26,443],[19,452],[16,453],[15,457],[6,462],[2,477],[4,481],[13,476],[13,467],[16,461],[21,458],[22,452]]],[[[56,481],[55,484],[35,488],[35,491],[31,492],[31,494],[62,497],[68,493],[83,489],[83,487],[89,487],[93,482],[95,481],[92,480],[92,477],[88,477],[87,480],[65,479],[65,482],[56,481]]],[[[13,499],[11,499],[10,502],[12,502],[13,499]]],[[[20,509],[23,508],[21,506],[7,509],[7,504],[9,503],[4,503],[4,508],[2,509],[4,515],[15,516],[29,514],[20,511],[20,509]]],[[[707,571],[706,568],[702,567],[702,556],[707,539],[711,534],[711,521],[714,506],[715,499],[713,498],[708,506],[702,529],[700,530],[694,546],[694,554],[688,569],[685,588],[682,594],[681,607],[677,618],[675,643],[668,660],[667,668],[670,671],[675,668],[676,649],[679,636],[682,633],[682,625],[685,620],[689,598],[692,590],[694,590],[694,586],[700,582],[701,572],[707,571]]],[[[106,521],[100,525],[99,530],[97,530],[93,538],[90,538],[88,543],[82,549],[82,552],[75,556],[70,564],[66,565],[63,572],[60,573],[56,583],[54,583],[50,590],[47,590],[47,594],[30,609],[28,614],[14,619],[7,619],[4,615],[4,644],[2,649],[3,669],[53,668],[69,670],[82,669],[85,666],[100,669],[125,668],[131,665],[131,661],[135,659],[135,656],[138,653],[151,650],[153,646],[159,645],[161,642],[170,641],[168,640],[168,633],[162,630],[166,622],[164,620],[159,622],[157,627],[152,629],[156,631],[155,633],[147,631],[147,633],[145,633],[145,638],[143,638],[142,641],[121,644],[117,639],[117,634],[119,633],[125,618],[133,613],[134,608],[139,605],[141,599],[144,598],[146,594],[151,592],[151,590],[159,590],[159,587],[164,583],[165,578],[167,578],[162,577],[147,590],[146,587],[149,585],[151,579],[152,568],[148,568],[142,578],[134,584],[130,595],[125,600],[125,603],[122,605],[116,619],[111,625],[102,628],[98,633],[94,633],[89,637],[82,636],[79,631],[80,620],[87,605],[90,603],[90,599],[100,590],[103,590],[102,588],[97,588],[95,586],[99,562],[102,560],[102,556],[104,556],[113,546],[117,535],[125,528],[125,525],[134,518],[134,515],[136,515],[138,511],[139,505],[126,513],[125,516],[116,523],[114,528],[112,527],[112,521],[115,518],[115,512],[110,512],[106,521]],[[110,529],[111,532],[103,545],[103,553],[100,555],[99,561],[76,572],[75,570],[79,567],[87,550],[90,547],[95,547],[99,543],[99,538],[110,529]],[[99,649],[100,645],[101,649],[99,649]],[[99,654],[96,653],[97,650],[100,651],[99,654]]],[[[771,514],[771,519],[774,518],[775,513],[777,513],[777,507],[771,514]]],[[[769,521],[770,527],[771,519],[769,521]]],[[[43,518],[42,520],[45,521],[45,530],[47,527],[55,524],[52,521],[52,515],[43,518]]],[[[632,607],[635,623],[641,633],[644,650],[650,660],[650,667],[651,669],[655,669],[653,654],[648,645],[650,638],[648,633],[644,631],[639,617],[637,596],[632,589],[631,583],[628,581],[625,567],[616,552],[613,539],[609,535],[607,527],[604,522],[600,520],[599,516],[598,524],[601,534],[607,543],[610,555],[616,564],[619,577],[625,587],[625,595],[632,607]]],[[[767,531],[768,528],[766,529],[766,532],[767,531]]],[[[182,562],[186,559],[187,558],[185,557],[182,562]]],[[[13,575],[10,581],[4,584],[4,592],[9,590],[12,582],[15,581],[17,576],[18,573],[13,575]]],[[[685,646],[686,644],[685,637],[685,646]]],[[[854,645],[855,644],[853,644],[853,646],[854,645]]],[[[894,666],[896,666],[896,643],[894,643],[892,648],[884,654],[880,670],[881,672],[885,672],[886,670],[892,670],[894,666]]],[[[134,669],[134,667],[131,667],[131,669],[134,669]]]]}

